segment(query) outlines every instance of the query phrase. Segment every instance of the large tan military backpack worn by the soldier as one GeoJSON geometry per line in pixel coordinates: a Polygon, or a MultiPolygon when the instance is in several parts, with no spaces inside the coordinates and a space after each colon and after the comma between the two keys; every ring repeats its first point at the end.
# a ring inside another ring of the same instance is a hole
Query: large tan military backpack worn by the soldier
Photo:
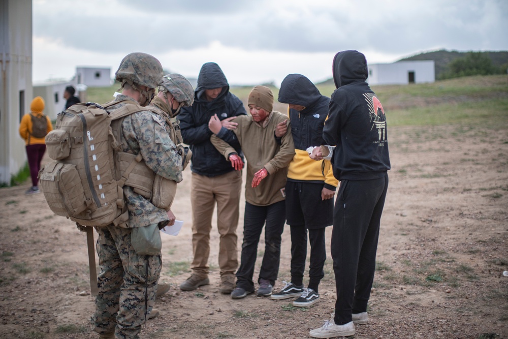
{"type": "MultiPolygon", "coordinates": [[[[99,106],[80,103],[58,114],[55,130],[46,136],[48,156],[53,160],[39,171],[40,186],[49,208],[76,222],[87,233],[92,295],[97,295],[93,227],[129,227],[123,186],[131,186],[161,208],[169,209],[176,182],[155,175],[143,161],[121,149],[121,122],[143,110],[161,111],[127,102],[111,101],[99,106]],[[88,226],[88,227],[83,227],[88,226]]],[[[173,126],[171,125],[171,128],[173,126]]]]}

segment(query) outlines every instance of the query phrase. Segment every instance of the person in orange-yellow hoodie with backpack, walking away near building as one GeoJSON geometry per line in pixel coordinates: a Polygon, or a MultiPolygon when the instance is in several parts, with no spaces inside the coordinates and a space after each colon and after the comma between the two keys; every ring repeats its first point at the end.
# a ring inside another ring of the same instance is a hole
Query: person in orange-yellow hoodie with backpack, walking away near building
{"type": "Polygon", "coordinates": [[[37,175],[41,169],[41,161],[46,152],[46,135],[53,130],[51,120],[44,115],[44,99],[36,97],[30,104],[30,113],[23,115],[19,124],[19,135],[25,140],[26,156],[30,167],[32,186],[25,194],[37,194],[41,191],[38,187],[37,175]]]}

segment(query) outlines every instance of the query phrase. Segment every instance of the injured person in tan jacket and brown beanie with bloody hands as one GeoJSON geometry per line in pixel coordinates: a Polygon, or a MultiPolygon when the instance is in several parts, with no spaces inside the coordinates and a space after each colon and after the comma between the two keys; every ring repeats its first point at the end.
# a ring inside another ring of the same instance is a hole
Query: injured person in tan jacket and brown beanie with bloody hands
{"type": "Polygon", "coordinates": [[[210,141],[236,170],[243,167],[235,148],[227,142],[236,138],[247,159],[245,184],[245,217],[240,268],[236,272],[236,288],[231,298],[244,298],[254,292],[252,276],[258,253],[258,243],[265,226],[265,254],[259,272],[258,296],[270,296],[277,280],[280,262],[281,235],[285,223],[284,187],[288,165],[295,155],[291,133],[280,140],[275,138],[277,125],[285,125],[287,116],[273,111],[273,93],[266,86],[256,86],[249,94],[250,115],[237,116],[233,131],[222,127],[219,118],[212,116],[209,129],[214,133],[210,141]]]}

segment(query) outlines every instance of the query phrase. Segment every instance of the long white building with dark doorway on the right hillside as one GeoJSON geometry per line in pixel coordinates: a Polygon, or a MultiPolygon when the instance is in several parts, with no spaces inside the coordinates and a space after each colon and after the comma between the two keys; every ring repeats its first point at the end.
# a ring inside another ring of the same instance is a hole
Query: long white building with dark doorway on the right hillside
{"type": "Polygon", "coordinates": [[[393,64],[368,65],[369,85],[407,85],[434,82],[434,60],[397,61],[393,64]]]}

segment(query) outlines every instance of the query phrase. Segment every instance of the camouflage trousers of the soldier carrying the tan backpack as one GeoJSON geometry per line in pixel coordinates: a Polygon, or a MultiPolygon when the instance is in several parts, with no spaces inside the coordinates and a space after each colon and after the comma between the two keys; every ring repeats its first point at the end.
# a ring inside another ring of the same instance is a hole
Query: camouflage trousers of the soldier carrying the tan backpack
{"type": "Polygon", "coordinates": [[[145,322],[145,292],[147,314],[155,300],[161,256],[137,255],[131,244],[131,229],[108,226],[97,231],[101,271],[96,312],[91,317],[94,331],[137,339],[145,322]]]}

